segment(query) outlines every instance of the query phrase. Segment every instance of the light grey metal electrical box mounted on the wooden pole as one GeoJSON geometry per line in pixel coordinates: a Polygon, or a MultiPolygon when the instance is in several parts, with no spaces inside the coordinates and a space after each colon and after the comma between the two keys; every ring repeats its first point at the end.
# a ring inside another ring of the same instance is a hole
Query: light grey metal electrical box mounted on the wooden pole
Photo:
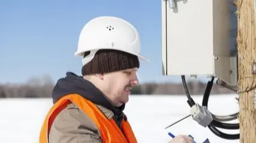
{"type": "Polygon", "coordinates": [[[163,0],[163,75],[213,75],[237,84],[232,1],[163,0]]]}

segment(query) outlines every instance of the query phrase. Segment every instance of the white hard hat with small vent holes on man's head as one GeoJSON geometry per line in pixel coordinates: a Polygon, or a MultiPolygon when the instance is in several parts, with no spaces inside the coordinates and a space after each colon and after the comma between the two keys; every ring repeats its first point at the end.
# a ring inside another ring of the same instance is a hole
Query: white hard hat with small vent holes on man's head
{"type": "Polygon", "coordinates": [[[82,60],[83,65],[90,62],[100,49],[121,50],[148,61],[140,55],[140,44],[138,31],[132,24],[118,17],[101,16],[90,20],[82,28],[75,55],[84,56],[90,51],[90,55],[82,60]]]}

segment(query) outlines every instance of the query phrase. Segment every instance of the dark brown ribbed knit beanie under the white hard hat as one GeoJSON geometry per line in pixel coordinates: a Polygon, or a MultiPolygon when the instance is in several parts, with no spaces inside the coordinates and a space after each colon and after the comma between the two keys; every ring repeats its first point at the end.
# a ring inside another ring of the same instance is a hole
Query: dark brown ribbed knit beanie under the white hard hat
{"type": "MultiPolygon", "coordinates": [[[[84,57],[89,54],[90,51],[85,52],[84,57]]],[[[135,67],[139,68],[138,56],[120,50],[102,49],[82,67],[82,75],[110,73],[135,67]]]]}

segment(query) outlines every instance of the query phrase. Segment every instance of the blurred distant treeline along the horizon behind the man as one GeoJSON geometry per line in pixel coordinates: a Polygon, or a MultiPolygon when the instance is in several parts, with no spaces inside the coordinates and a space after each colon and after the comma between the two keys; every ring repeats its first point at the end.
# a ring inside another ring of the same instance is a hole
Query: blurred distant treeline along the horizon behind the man
{"type": "MultiPolygon", "coordinates": [[[[0,98],[43,98],[50,97],[53,89],[53,82],[49,76],[42,78],[31,78],[23,84],[0,84],[0,98]]],[[[206,84],[199,81],[187,82],[190,94],[203,95],[206,84]]],[[[132,94],[168,94],[168,95],[184,95],[182,84],[173,83],[146,83],[140,84],[133,88],[132,94]]],[[[213,85],[211,94],[234,94],[234,91],[219,85],[213,85]]]]}

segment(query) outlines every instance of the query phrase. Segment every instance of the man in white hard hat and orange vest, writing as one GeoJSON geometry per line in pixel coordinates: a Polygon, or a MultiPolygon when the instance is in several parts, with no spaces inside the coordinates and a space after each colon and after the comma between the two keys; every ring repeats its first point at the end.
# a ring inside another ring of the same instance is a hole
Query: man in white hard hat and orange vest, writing
{"type": "Polygon", "coordinates": [[[129,22],[109,16],[90,20],[75,53],[83,57],[82,76],[68,72],[56,83],[40,143],[137,142],[123,110],[138,84],[139,59],[147,60],[139,52],[139,34],[129,22]]]}

